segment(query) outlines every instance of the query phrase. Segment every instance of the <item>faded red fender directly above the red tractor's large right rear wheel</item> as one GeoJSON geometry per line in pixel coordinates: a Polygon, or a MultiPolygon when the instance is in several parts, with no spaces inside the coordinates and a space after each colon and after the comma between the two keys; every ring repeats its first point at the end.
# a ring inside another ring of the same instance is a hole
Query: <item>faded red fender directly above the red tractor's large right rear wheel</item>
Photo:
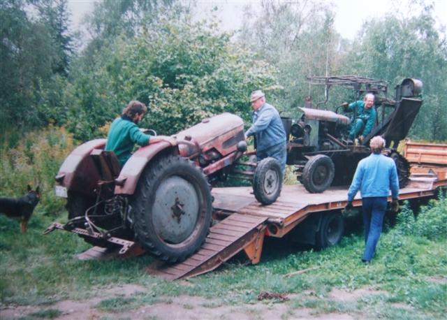
{"type": "Polygon", "coordinates": [[[140,149],[135,151],[132,157],[124,164],[124,167],[119,173],[119,177],[115,180],[115,194],[133,194],[142,170],[146,168],[147,163],[157,154],[168,148],[170,148],[170,143],[161,141],[153,145],[140,147],[140,149]]]}

